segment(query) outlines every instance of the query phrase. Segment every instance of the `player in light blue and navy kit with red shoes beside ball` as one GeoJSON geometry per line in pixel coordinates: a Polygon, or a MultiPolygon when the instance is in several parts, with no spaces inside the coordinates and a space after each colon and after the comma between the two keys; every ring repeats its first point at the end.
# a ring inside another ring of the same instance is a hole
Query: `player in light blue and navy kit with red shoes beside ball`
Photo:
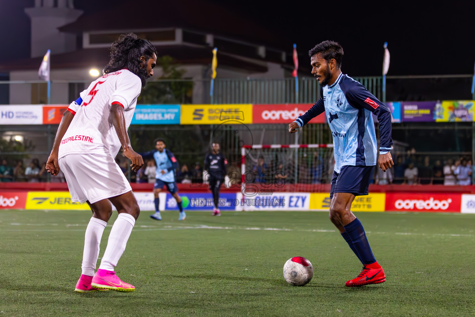
{"type": "Polygon", "coordinates": [[[390,110],[363,85],[341,71],[343,48],[324,41],[309,51],[312,74],[321,88],[320,99],[304,115],[289,124],[289,132],[325,112],[333,135],[335,170],[330,191],[330,220],[363,264],[360,275],[348,287],[386,281],[384,270],[373,256],[363,226],[350,210],[355,196],[367,195],[374,165],[386,171],[393,165],[390,149],[390,110]],[[372,114],[380,122],[380,155],[372,114]]]}

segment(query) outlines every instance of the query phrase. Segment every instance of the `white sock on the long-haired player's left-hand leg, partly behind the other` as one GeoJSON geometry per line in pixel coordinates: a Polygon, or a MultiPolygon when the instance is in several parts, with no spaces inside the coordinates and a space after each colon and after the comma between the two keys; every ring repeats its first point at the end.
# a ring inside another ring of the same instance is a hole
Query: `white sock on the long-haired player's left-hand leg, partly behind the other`
{"type": "Polygon", "coordinates": [[[82,274],[94,276],[97,257],[99,256],[99,245],[101,244],[102,233],[107,222],[92,217],[86,228],[84,239],[84,253],[82,274]]]}

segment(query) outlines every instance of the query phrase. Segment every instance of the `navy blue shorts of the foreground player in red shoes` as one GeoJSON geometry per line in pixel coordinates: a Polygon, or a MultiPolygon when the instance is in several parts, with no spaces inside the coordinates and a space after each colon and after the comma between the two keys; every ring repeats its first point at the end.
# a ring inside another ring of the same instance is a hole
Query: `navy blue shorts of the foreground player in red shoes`
{"type": "Polygon", "coordinates": [[[335,192],[349,192],[355,196],[368,194],[374,166],[345,165],[340,173],[333,172],[330,198],[335,192]]]}

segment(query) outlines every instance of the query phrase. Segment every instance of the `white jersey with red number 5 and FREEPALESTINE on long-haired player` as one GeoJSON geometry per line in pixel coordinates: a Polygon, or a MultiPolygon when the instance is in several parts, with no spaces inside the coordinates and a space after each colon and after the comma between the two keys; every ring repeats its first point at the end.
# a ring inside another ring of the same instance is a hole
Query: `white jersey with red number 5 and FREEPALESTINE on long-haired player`
{"type": "Polygon", "coordinates": [[[92,153],[108,153],[115,157],[121,144],[112,123],[111,105],[123,106],[128,128],[141,89],[140,78],[127,69],[105,74],[93,81],[80,94],[81,105],[73,102],[68,108],[74,118],[59,144],[58,158],[67,154],[92,153]]]}

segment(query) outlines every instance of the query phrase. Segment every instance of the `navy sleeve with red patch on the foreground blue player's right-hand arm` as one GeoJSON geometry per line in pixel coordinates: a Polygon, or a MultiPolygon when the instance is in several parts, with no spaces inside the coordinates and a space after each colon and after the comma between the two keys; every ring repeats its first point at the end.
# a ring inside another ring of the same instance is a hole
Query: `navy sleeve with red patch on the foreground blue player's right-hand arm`
{"type": "Polygon", "coordinates": [[[392,145],[391,112],[387,106],[357,81],[341,81],[340,87],[351,106],[370,110],[380,122],[380,151],[389,152],[392,145]]]}

